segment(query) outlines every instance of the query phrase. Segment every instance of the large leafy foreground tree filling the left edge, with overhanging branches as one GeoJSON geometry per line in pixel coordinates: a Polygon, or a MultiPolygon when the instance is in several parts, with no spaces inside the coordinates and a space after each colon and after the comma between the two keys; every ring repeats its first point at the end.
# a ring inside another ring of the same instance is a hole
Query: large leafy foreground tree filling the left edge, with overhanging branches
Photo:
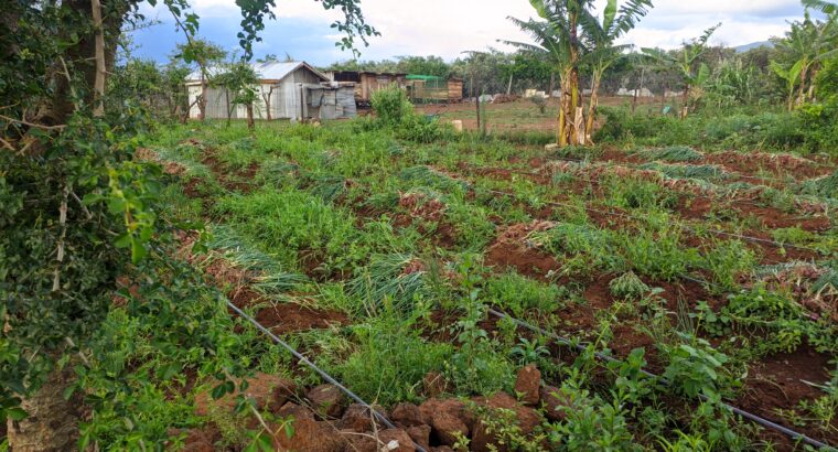
{"type": "MultiPolygon", "coordinates": [[[[141,3],[3,3],[0,419],[8,420],[14,451],[77,446],[84,387],[73,389],[84,380],[77,379],[76,369],[84,374],[86,347],[112,308],[117,278],[155,249],[158,173],[133,160],[142,117],[107,109],[116,45],[141,3]]],[[[186,0],[164,4],[192,40],[198,18],[189,12],[186,0]]],[[[238,4],[239,37],[249,60],[276,4],[238,4]]],[[[356,51],[356,39],[366,42],[377,33],[366,24],[357,0],[321,4],[344,13],[334,24],[345,35],[340,45],[356,51]]],[[[161,315],[159,321],[171,319],[161,315]]]]}

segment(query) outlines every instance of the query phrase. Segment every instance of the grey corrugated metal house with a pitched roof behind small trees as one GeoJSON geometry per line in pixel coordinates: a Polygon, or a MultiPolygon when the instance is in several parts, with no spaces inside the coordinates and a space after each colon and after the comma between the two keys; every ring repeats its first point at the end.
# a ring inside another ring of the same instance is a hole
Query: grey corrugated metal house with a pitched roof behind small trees
{"type": "MultiPolygon", "coordinates": [[[[256,119],[337,119],[356,115],[354,85],[332,83],[305,62],[256,63],[254,71],[259,77],[257,101],[254,104],[256,119]]],[[[212,77],[222,67],[207,69],[210,83],[205,117],[207,119],[243,119],[245,106],[232,106],[232,93],[222,86],[214,86],[212,77]]],[[[201,96],[201,73],[195,72],[186,79],[190,118],[197,118],[200,109],[195,101],[201,96]]]]}

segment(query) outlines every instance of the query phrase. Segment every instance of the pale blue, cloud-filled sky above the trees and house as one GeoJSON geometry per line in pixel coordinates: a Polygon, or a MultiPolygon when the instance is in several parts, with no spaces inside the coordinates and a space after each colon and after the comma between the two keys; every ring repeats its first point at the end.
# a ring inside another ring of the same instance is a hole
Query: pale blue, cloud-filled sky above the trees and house
{"type": "MultiPolygon", "coordinates": [[[[598,0],[602,3],[602,0],[598,0]]],[[[286,54],[298,61],[325,66],[351,60],[334,43],[340,39],[330,24],[340,13],[323,10],[313,0],[276,0],[276,21],[266,23],[257,57],[286,54]]],[[[162,2],[159,2],[162,3],[162,2]]],[[[715,44],[730,46],[766,41],[782,35],[788,21],[803,17],[799,0],[654,0],[655,8],[623,40],[637,46],[677,47],[721,22],[715,44]]],[[[239,50],[236,33],[240,14],[235,0],[191,0],[201,17],[198,35],[230,52],[239,50]]],[[[528,0],[362,0],[367,22],[380,36],[361,47],[361,60],[395,58],[401,55],[438,55],[451,61],[464,51],[488,46],[509,50],[497,40],[527,41],[507,18],[534,14],[528,0]]],[[[147,19],[161,23],[133,32],[132,54],[165,62],[176,43],[184,42],[163,7],[143,3],[147,19]]]]}

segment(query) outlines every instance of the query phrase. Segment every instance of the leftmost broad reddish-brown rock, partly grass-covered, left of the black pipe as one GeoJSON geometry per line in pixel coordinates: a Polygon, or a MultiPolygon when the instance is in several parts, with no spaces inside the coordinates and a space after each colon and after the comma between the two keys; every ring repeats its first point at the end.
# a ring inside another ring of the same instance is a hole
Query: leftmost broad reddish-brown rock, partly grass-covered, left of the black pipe
{"type": "MultiPolygon", "coordinates": [[[[276,375],[256,374],[245,379],[248,386],[244,394],[256,401],[256,408],[259,410],[275,412],[297,392],[297,385],[293,381],[276,375]]],[[[227,394],[218,400],[213,400],[211,391],[204,391],[195,396],[195,415],[208,416],[213,410],[233,411],[236,408],[236,399],[240,394],[238,388],[241,385],[241,380],[235,380],[235,384],[236,391],[227,394]]]]}

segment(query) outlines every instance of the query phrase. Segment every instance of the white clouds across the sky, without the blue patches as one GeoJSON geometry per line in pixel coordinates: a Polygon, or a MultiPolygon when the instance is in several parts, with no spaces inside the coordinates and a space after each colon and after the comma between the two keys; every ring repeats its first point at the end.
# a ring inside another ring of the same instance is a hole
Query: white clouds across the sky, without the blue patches
{"type": "MultiPolygon", "coordinates": [[[[235,0],[192,3],[202,17],[238,21],[235,0]]],[[[507,17],[534,15],[528,0],[362,0],[361,7],[367,22],[382,33],[362,49],[363,58],[430,54],[455,58],[468,50],[505,49],[498,39],[527,41],[507,17]]],[[[268,28],[300,20],[312,23],[312,40],[340,37],[329,24],[340,20],[341,12],[324,11],[320,2],[277,0],[276,13],[279,22],[268,28]]],[[[799,0],[655,0],[655,8],[624,41],[672,49],[722,22],[716,42],[740,45],[782,34],[786,20],[802,13],[799,0]]]]}

